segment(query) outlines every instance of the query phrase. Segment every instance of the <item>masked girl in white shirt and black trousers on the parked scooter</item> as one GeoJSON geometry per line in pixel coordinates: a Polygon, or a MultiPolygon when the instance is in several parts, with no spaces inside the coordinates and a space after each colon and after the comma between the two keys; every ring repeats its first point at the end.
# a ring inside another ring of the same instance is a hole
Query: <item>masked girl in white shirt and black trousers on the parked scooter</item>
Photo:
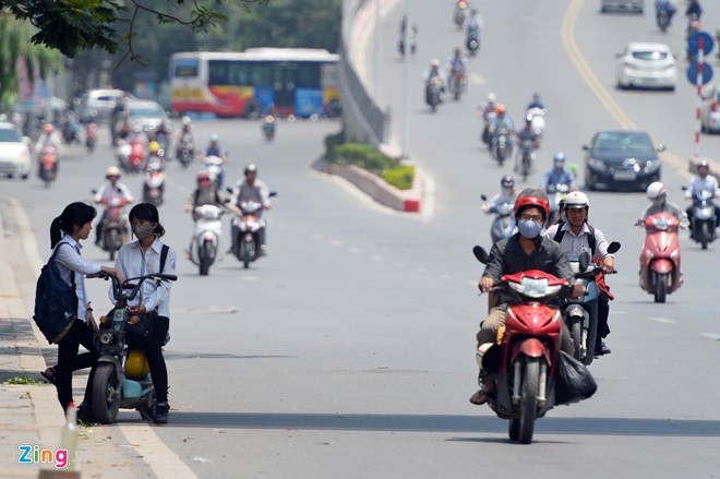
{"type": "MultiPolygon", "coordinates": [[[[115,267],[127,278],[134,278],[149,273],[160,273],[160,255],[165,228],[160,225],[157,208],[149,203],[140,203],[130,211],[130,225],[137,238],[123,244],[118,251],[115,267]]],[[[163,273],[175,274],[176,253],[172,248],[168,250],[163,273]]],[[[152,411],[151,419],[157,424],[168,422],[168,371],[163,357],[163,346],[166,343],[170,327],[170,288],[171,282],[143,282],[137,297],[129,303],[128,312],[131,314],[145,314],[155,311],[153,328],[147,338],[143,339],[143,349],[147,357],[157,405],[152,411]]],[[[110,300],[115,301],[115,291],[110,288],[110,300]]]]}

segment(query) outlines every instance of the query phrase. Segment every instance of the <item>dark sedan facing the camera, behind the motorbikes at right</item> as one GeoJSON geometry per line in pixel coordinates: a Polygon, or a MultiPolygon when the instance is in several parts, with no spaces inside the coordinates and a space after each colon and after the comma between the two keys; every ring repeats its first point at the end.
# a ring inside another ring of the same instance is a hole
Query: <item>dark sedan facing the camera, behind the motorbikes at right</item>
{"type": "Polygon", "coordinates": [[[641,190],[660,180],[658,152],[644,131],[601,131],[592,136],[585,151],[585,188],[593,191],[641,190]]]}

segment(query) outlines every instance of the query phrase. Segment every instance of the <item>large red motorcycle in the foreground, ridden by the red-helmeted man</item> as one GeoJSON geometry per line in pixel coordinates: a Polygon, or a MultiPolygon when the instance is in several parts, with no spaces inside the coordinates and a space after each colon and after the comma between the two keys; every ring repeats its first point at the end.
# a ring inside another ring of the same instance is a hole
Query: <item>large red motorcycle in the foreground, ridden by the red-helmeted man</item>
{"type": "MultiPolygon", "coordinates": [[[[488,263],[482,248],[475,247],[472,252],[478,261],[488,263]]],[[[586,267],[587,256],[580,270],[586,267]]],[[[556,405],[562,320],[555,300],[568,295],[571,284],[532,270],[503,275],[493,289],[502,289],[514,300],[507,307],[499,344],[482,356],[478,351],[479,366],[495,383],[495,397],[489,398],[488,405],[501,419],[509,419],[511,440],[529,444],[536,420],[556,405]]]]}

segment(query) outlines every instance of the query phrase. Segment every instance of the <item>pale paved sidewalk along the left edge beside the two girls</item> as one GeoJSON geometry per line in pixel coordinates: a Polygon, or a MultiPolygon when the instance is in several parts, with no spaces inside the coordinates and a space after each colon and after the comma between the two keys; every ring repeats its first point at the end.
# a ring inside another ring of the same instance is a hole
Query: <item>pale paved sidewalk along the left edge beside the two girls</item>
{"type": "MultiPolygon", "coordinates": [[[[19,446],[37,444],[55,451],[64,423],[56,388],[39,374],[46,368],[46,356],[50,363],[55,361],[57,346],[48,345],[31,319],[41,266],[33,249],[37,247],[22,206],[0,196],[0,478],[38,477],[40,470],[52,470],[52,464],[20,464],[19,446]],[[40,384],[4,384],[22,376],[40,384]]],[[[82,397],[86,381],[87,372],[74,376],[76,398],[82,397]]],[[[130,445],[119,445],[125,443],[115,426],[80,428],[82,477],[153,477],[130,445]]]]}

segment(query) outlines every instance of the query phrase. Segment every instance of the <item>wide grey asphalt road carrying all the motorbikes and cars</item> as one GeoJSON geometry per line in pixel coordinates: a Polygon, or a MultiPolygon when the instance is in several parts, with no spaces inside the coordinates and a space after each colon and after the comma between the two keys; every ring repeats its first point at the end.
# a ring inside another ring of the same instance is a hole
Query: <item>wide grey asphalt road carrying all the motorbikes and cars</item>
{"type": "MultiPolygon", "coordinates": [[[[579,160],[579,146],[596,130],[617,127],[617,111],[608,111],[568,59],[561,3],[478,2],[487,28],[470,89],[436,115],[422,104],[422,70],[463,39],[451,23],[451,2],[415,7],[420,44],[409,151],[437,182],[432,219],[375,206],[310,168],[323,135],[338,123],[283,121],[272,144],[262,141],[257,122],[195,123],[199,139],[218,133],[230,151],[226,178],[239,178],[251,157],[278,191],[268,217],[271,254],[249,271],[225,258],[207,277],[179,254],[166,348],[170,424],[141,442],[129,439],[139,453],[151,456],[159,441],[177,456],[169,460],[203,478],[717,475],[720,386],[712,364],[720,360],[720,328],[710,298],[720,247],[700,251],[683,236],[685,284],[668,303],[653,304],[637,285],[644,233],[632,224],[646,204],[639,193],[590,196],[591,221],[623,243],[620,274],[611,279],[613,352],[592,364],[596,396],[549,412],[530,446],[509,443],[505,421],[468,403],[477,388],[475,333],[485,309],[475,286],[482,268],[470,249],[489,246],[491,220],[479,194],[496,191],[505,172],[480,145],[476,107],[493,91],[517,118],[531,93],[541,92],[549,106],[542,165],[557,149],[579,160]]],[[[398,14],[384,20],[388,48],[381,63],[383,101],[395,112],[403,92],[398,14]]],[[[681,20],[663,37],[679,48],[681,20]]],[[[675,94],[612,89],[613,53],[638,37],[661,38],[651,15],[599,15],[595,4],[579,11],[575,41],[610,97],[657,142],[687,157],[689,86],[679,84],[675,94]]],[[[707,152],[720,145],[703,141],[707,152]]],[[[89,197],[113,163],[107,141],[100,144],[92,156],[70,147],[48,190],[35,178],[0,180],[3,194],[23,201],[43,259],[51,218],[89,197]]],[[[192,232],[182,204],[195,171],[196,165],[177,164],[168,171],[160,218],[166,242],[178,251],[192,232]]],[[[122,180],[140,193],[139,177],[122,180]]],[[[685,179],[672,159],[663,180],[680,202],[685,179]]],[[[227,219],[225,226],[227,238],[227,219]]],[[[92,242],[84,255],[107,260],[92,242]]],[[[99,304],[106,285],[88,285],[99,304]]],[[[125,411],[111,428],[133,438],[140,423],[125,411]]]]}

